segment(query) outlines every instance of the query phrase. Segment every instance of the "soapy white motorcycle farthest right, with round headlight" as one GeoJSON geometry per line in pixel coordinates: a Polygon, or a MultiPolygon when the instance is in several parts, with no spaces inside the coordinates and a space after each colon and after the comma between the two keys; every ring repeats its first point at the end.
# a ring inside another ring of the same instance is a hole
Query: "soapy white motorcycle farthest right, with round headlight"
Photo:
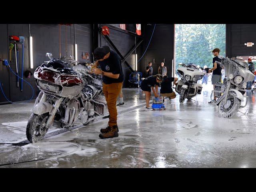
{"type": "Polygon", "coordinates": [[[212,99],[213,102],[216,102],[218,106],[218,113],[223,118],[230,118],[240,108],[244,108],[247,105],[248,96],[244,96],[246,86],[248,81],[254,80],[254,74],[250,72],[248,64],[241,59],[229,59],[224,58],[223,56],[218,56],[220,62],[217,61],[217,64],[220,64],[224,68],[226,78],[224,78],[223,83],[216,83],[215,90],[212,90],[212,94],[215,93],[217,101],[212,99]],[[241,102],[246,100],[245,105],[242,106],[241,102]]]}

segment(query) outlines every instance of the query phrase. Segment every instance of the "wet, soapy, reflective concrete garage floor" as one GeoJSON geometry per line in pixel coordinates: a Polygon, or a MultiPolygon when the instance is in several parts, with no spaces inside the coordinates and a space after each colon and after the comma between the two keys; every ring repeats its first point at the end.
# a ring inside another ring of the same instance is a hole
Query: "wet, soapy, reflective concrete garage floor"
{"type": "Polygon", "coordinates": [[[140,88],[124,88],[119,137],[110,139],[98,136],[108,123],[102,119],[71,132],[52,129],[30,144],[26,124],[34,100],[2,105],[0,168],[255,168],[256,93],[246,91],[248,104],[240,110],[246,114],[225,119],[208,104],[211,90],[203,85],[196,102],[180,104],[177,95],[166,110],[148,111],[140,88]]]}

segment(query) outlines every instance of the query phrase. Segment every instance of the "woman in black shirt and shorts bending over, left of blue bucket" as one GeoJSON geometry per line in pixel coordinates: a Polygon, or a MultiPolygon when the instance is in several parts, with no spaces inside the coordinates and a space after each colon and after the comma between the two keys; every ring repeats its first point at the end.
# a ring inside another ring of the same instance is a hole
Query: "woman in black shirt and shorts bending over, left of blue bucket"
{"type": "Polygon", "coordinates": [[[158,97],[158,85],[159,83],[163,80],[163,76],[160,74],[154,75],[154,76],[149,76],[145,78],[141,82],[141,89],[144,91],[146,95],[146,109],[152,111],[152,107],[149,106],[149,100],[151,96],[151,89],[155,95],[155,97],[158,97]],[[156,86],[156,90],[154,87],[156,86]]]}

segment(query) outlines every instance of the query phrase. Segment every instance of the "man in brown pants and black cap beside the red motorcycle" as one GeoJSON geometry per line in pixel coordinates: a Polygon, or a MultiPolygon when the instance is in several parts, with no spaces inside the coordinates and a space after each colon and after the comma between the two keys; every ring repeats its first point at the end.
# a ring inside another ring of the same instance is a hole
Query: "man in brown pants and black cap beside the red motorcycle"
{"type": "Polygon", "coordinates": [[[122,89],[124,74],[121,66],[120,56],[110,50],[108,46],[98,47],[94,50],[94,67],[100,65],[101,69],[92,68],[94,74],[101,74],[103,81],[103,93],[106,98],[109,121],[108,127],[101,129],[99,137],[102,139],[118,137],[116,99],[122,89]]]}

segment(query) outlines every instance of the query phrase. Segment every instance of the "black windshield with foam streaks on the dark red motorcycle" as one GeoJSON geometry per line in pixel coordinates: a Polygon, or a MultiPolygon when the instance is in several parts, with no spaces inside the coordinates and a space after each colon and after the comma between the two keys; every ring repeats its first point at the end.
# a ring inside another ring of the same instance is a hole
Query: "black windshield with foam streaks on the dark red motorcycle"
{"type": "Polygon", "coordinates": [[[48,63],[42,64],[41,68],[55,71],[64,75],[77,75],[70,64],[56,58],[52,58],[48,63]]]}

